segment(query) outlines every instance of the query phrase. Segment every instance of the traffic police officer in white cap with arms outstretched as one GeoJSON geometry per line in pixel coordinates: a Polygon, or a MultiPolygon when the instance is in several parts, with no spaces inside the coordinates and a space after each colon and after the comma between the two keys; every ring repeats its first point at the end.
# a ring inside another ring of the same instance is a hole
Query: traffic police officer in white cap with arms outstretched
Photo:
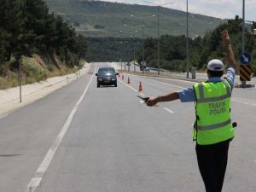
{"type": "Polygon", "coordinates": [[[230,141],[234,130],[230,119],[230,97],[233,88],[236,61],[226,30],[222,32],[224,48],[230,67],[224,75],[224,64],[220,60],[209,61],[207,82],[195,84],[192,88],[172,92],[166,96],[150,97],[148,106],[157,102],[195,102],[194,140],[201,177],[207,192],[221,192],[228,160],[230,141]]]}

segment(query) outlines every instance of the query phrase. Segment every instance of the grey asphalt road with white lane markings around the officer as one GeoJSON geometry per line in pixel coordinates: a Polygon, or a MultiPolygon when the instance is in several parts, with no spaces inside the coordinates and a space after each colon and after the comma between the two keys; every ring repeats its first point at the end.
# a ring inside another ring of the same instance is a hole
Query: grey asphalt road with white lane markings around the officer
{"type": "MultiPolygon", "coordinates": [[[[108,66],[94,63],[93,66],[108,66]]],[[[90,74],[0,119],[0,191],[203,192],[192,142],[194,103],[137,98],[193,83],[129,76],[96,88],[90,74]]],[[[256,90],[234,89],[224,192],[256,191],[256,90]]]]}

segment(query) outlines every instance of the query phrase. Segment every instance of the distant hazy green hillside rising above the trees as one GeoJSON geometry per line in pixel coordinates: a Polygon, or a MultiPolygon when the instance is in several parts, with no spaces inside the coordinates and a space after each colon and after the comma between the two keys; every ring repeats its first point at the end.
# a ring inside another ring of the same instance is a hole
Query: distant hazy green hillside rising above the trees
{"type": "MultiPolygon", "coordinates": [[[[45,1],[48,3],[49,12],[61,15],[76,28],[77,32],[87,37],[130,37],[133,35],[142,38],[143,20],[135,19],[131,15],[145,18],[145,38],[157,37],[157,8],[153,6],[88,0],[45,1]]],[[[203,35],[204,32],[212,31],[222,22],[224,20],[214,17],[189,14],[189,36],[193,38],[203,35]]],[[[160,8],[160,35],[181,35],[185,32],[186,12],[160,8]]]]}

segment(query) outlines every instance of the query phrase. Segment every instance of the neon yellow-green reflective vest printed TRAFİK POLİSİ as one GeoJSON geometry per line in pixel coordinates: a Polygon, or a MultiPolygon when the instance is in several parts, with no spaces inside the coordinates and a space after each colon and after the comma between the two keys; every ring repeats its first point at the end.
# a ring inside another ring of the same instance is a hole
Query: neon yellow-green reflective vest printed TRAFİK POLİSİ
{"type": "Polygon", "coordinates": [[[194,140],[200,145],[226,141],[235,136],[230,119],[231,86],[221,82],[195,84],[194,140]]]}

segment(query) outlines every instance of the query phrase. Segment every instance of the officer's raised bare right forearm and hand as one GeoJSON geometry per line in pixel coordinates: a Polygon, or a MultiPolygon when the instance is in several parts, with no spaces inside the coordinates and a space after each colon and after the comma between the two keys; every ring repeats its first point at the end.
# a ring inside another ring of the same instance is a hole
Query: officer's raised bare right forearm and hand
{"type": "Polygon", "coordinates": [[[227,57],[228,57],[230,67],[233,67],[236,69],[236,60],[234,57],[233,49],[230,44],[229,32],[227,30],[224,30],[222,32],[222,42],[224,45],[224,49],[226,49],[226,51],[227,51],[227,57]]]}

